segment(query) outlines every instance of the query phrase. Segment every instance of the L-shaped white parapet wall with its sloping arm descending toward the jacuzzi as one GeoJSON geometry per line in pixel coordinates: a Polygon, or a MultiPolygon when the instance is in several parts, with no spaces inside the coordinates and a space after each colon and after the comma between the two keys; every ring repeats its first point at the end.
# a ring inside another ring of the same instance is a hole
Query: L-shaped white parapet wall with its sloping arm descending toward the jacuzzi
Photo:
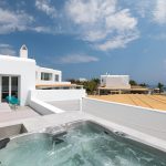
{"type": "Polygon", "coordinates": [[[58,101],[73,101],[85,97],[85,90],[33,90],[30,92],[29,105],[42,115],[59,114],[65,112],[64,110],[58,108],[49,104],[49,102],[58,101]]]}

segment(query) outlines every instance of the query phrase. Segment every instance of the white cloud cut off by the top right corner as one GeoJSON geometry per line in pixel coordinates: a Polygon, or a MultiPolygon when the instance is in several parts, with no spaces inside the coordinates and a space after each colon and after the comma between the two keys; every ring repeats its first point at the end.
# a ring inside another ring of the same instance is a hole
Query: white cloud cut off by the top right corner
{"type": "Polygon", "coordinates": [[[154,10],[154,21],[163,24],[166,23],[166,0],[157,0],[154,10]]]}

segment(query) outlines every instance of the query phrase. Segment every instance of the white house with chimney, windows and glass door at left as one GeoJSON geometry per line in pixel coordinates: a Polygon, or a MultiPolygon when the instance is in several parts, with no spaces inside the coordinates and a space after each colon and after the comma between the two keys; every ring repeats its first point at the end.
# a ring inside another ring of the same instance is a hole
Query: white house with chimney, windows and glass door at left
{"type": "Polygon", "coordinates": [[[38,66],[35,60],[28,58],[25,45],[21,46],[20,56],[0,55],[0,102],[14,95],[21,105],[25,105],[30,90],[35,90],[37,85],[55,84],[71,83],[62,82],[61,71],[38,66]]]}

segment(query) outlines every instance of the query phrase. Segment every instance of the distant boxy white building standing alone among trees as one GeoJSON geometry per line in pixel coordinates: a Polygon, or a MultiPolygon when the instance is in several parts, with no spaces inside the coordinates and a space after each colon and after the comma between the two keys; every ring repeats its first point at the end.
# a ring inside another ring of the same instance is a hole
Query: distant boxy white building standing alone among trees
{"type": "Polygon", "coordinates": [[[110,89],[131,89],[129,75],[101,75],[101,86],[110,89]]]}

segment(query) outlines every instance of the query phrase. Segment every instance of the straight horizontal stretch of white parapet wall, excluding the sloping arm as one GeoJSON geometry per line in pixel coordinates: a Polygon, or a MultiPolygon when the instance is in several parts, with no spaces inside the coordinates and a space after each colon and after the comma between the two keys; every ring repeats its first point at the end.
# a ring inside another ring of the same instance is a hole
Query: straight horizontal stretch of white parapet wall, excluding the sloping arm
{"type": "Polygon", "coordinates": [[[81,100],[85,97],[85,90],[34,90],[31,91],[31,97],[41,100],[43,102],[53,101],[70,101],[81,100]]]}

